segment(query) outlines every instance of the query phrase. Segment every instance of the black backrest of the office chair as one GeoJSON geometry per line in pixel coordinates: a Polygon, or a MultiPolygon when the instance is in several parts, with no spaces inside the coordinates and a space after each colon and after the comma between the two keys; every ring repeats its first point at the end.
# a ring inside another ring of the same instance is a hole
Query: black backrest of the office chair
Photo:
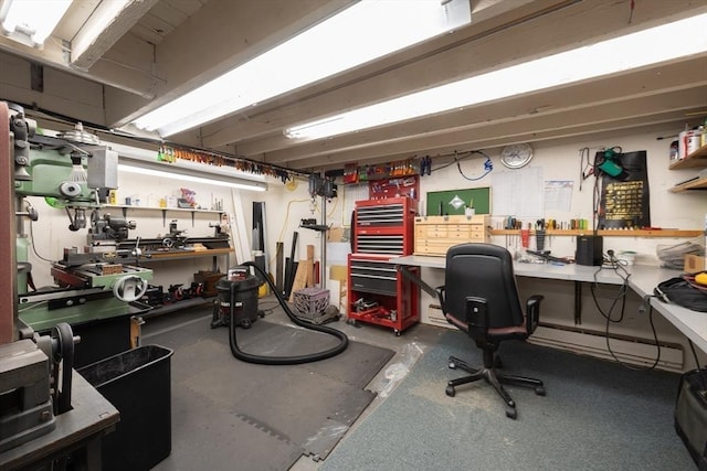
{"type": "Polygon", "coordinates": [[[521,325],[524,313],[513,271],[513,257],[493,244],[461,244],[446,253],[445,308],[466,318],[466,298],[486,299],[489,328],[521,325]]]}

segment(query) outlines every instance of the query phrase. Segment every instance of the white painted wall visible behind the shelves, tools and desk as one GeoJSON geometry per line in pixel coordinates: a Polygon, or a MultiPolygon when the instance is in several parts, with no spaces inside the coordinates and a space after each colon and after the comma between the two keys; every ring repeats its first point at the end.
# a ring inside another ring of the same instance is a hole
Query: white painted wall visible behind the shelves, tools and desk
{"type": "MultiPolygon", "coordinates": [[[[677,132],[677,129],[665,129],[661,136],[669,136],[677,132]]],[[[707,214],[707,195],[704,192],[685,192],[671,193],[668,189],[676,182],[683,181],[696,172],[696,170],[668,171],[668,147],[671,139],[656,140],[655,135],[635,132],[632,135],[621,136],[601,136],[591,140],[577,140],[572,142],[538,142],[534,144],[535,157],[530,165],[542,168],[545,180],[572,180],[574,189],[572,193],[571,210],[563,214],[546,214],[546,217],[552,217],[558,221],[570,220],[573,217],[591,218],[592,208],[592,191],[591,180],[587,180],[583,190],[579,191],[579,149],[589,147],[593,152],[602,147],[621,146],[624,151],[646,150],[648,156],[648,178],[651,185],[651,218],[654,226],[674,227],[680,229],[699,229],[704,227],[705,215],[707,214]]],[[[498,149],[487,152],[494,163],[494,172],[508,171],[498,160],[498,149]]],[[[479,175],[483,173],[483,158],[465,160],[462,169],[466,175],[479,175]]],[[[452,189],[468,189],[476,186],[490,185],[494,172],[478,182],[468,182],[457,171],[456,165],[450,165],[439,170],[445,161],[433,161],[433,172],[430,176],[421,179],[421,194],[425,195],[431,191],[443,191],[452,189]]],[[[527,169],[514,170],[514,172],[524,173],[527,169]]],[[[264,201],[266,206],[266,235],[268,253],[268,268],[272,274],[275,272],[275,244],[284,243],[284,254],[289,256],[293,233],[299,234],[297,246],[297,257],[305,258],[306,246],[314,245],[315,258],[320,259],[320,233],[310,229],[299,228],[302,218],[316,218],[321,222],[321,199],[317,197],[314,203],[307,191],[307,182],[298,181],[298,185],[294,191],[287,190],[279,181],[272,180],[270,190],[264,193],[240,191],[240,204],[238,200],[232,197],[231,191],[220,186],[208,186],[199,184],[184,184],[197,192],[197,200],[205,207],[211,207],[211,202],[222,200],[224,211],[232,216],[240,213],[245,221],[245,234],[241,231],[240,236],[251,240],[252,226],[252,202],[264,201]]],[[[180,184],[171,180],[156,180],[154,178],[145,178],[134,174],[120,174],[119,197],[139,194],[143,201],[147,201],[150,196],[158,197],[160,195],[177,194],[180,184]]],[[[347,225],[350,221],[350,204],[346,204],[346,188],[339,185],[339,197],[327,204],[327,222],[330,225],[347,225]]],[[[537,196],[537,195],[536,195],[537,196]]],[[[349,196],[350,199],[350,196],[349,196]]],[[[424,199],[424,196],[423,196],[424,199]]],[[[64,247],[82,246],[86,240],[86,231],[80,233],[71,233],[67,231],[67,220],[65,213],[54,210],[45,205],[41,199],[32,199],[34,206],[40,212],[40,221],[33,224],[34,246],[36,251],[46,259],[61,258],[64,247]]],[[[350,203],[350,202],[349,202],[350,203]]],[[[159,211],[128,211],[128,218],[137,223],[137,229],[133,231],[130,237],[156,237],[168,232],[169,221],[177,218],[179,227],[187,231],[187,234],[194,236],[210,235],[213,229],[209,227],[209,223],[218,222],[218,215],[197,213],[193,227],[191,217],[188,213],[179,213],[177,215],[168,214],[166,226],[162,225],[161,213],[159,211]]],[[[494,218],[494,221],[500,218],[494,218]]],[[[637,263],[657,264],[655,249],[661,244],[675,244],[683,239],[673,238],[639,238],[639,237],[605,237],[604,250],[613,248],[616,251],[622,249],[632,249],[640,254],[637,263]]],[[[506,244],[505,236],[494,236],[493,242],[499,245],[506,244]]],[[[553,255],[566,256],[573,255],[576,240],[574,237],[555,237],[550,243],[553,255]]],[[[513,248],[513,247],[510,247],[513,248]]],[[[33,275],[38,286],[51,283],[49,274],[50,264],[40,260],[33,254],[30,257],[33,264],[33,275]]],[[[239,260],[241,261],[241,260],[239,260]]],[[[231,265],[236,260],[231,259],[231,265]]],[[[220,268],[224,269],[225,260],[220,259],[220,268]]],[[[340,264],[340,261],[337,261],[340,264]]],[[[183,261],[165,261],[160,264],[151,264],[155,269],[155,282],[168,286],[170,283],[186,282],[189,283],[192,275],[199,269],[211,269],[211,259],[193,259],[183,261]]],[[[439,270],[437,270],[439,271],[439,270]]],[[[434,270],[424,270],[423,277],[432,286],[441,285],[443,281],[441,272],[434,270]]],[[[524,295],[541,291],[546,295],[544,304],[544,319],[561,324],[572,323],[572,304],[568,303],[567,292],[569,288],[558,287],[556,285],[538,286],[538,282],[529,280],[520,281],[520,289],[524,295]]],[[[588,289],[584,293],[584,323],[583,328],[590,331],[601,332],[604,329],[604,321],[592,307],[592,300],[588,297],[588,289]]],[[[608,299],[613,296],[611,292],[602,293],[602,303],[605,304],[608,299]]],[[[636,298],[636,297],[633,297],[636,298]]],[[[652,332],[647,319],[637,313],[640,300],[630,298],[626,321],[621,325],[611,327],[612,332],[631,333],[642,339],[652,339],[652,332]]],[[[432,299],[423,292],[422,295],[422,312],[423,319],[428,314],[428,307],[436,303],[436,299],[432,299]]],[[[682,334],[672,325],[663,321],[659,314],[655,315],[656,325],[661,340],[674,342],[676,344],[686,345],[682,334]]],[[[685,350],[688,352],[688,350],[685,350]]],[[[692,362],[687,362],[692,364],[692,362]]]]}

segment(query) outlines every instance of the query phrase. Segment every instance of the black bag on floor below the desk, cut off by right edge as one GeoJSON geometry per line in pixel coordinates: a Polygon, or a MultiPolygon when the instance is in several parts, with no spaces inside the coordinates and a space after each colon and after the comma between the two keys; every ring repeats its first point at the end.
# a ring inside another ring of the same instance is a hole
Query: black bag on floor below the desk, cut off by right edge
{"type": "Polygon", "coordinates": [[[707,471],[707,368],[680,377],[675,403],[675,431],[699,471],[707,471]]]}

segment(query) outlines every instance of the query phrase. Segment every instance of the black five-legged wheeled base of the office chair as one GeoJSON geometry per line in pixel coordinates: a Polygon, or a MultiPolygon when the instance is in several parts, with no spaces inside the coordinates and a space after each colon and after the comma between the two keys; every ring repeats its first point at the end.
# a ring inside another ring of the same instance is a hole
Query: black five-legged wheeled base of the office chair
{"type": "MultiPolygon", "coordinates": [[[[499,364],[499,363],[500,362],[496,357],[496,364],[499,364]]],[[[471,376],[464,376],[461,378],[451,379],[447,383],[447,386],[445,389],[445,393],[447,396],[454,397],[454,394],[456,393],[455,390],[456,386],[461,386],[467,383],[474,383],[479,379],[485,379],[486,383],[494,386],[494,389],[496,389],[498,395],[504,399],[504,402],[506,403],[506,416],[511,419],[515,419],[517,417],[516,403],[508,395],[506,389],[504,389],[503,387],[504,384],[532,387],[535,389],[535,394],[537,394],[538,396],[545,396],[545,387],[540,379],[498,373],[495,367],[482,367],[482,368],[474,367],[468,365],[463,360],[460,360],[455,356],[450,356],[449,366],[452,370],[455,370],[455,368],[464,370],[465,372],[471,373],[471,376]]]]}

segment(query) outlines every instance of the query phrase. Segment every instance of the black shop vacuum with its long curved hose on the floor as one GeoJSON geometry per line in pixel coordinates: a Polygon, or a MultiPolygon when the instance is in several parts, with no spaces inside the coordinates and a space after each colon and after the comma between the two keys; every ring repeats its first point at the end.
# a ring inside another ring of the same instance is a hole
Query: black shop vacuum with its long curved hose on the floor
{"type": "Polygon", "coordinates": [[[252,261],[245,261],[238,267],[229,269],[228,276],[219,280],[215,287],[218,290],[218,301],[214,304],[211,328],[226,327],[229,329],[231,353],[243,362],[261,365],[297,365],[329,358],[344,352],[348,346],[349,339],[344,332],[326,325],[312,324],[299,320],[282,293],[278,292],[277,288],[270,280],[267,274],[252,261]],[[253,267],[261,277],[251,275],[250,267],[253,267]],[[339,343],[328,350],[306,355],[263,356],[243,352],[238,345],[236,330],[239,327],[250,329],[258,317],[264,317],[263,312],[257,309],[257,289],[262,285],[262,280],[265,280],[270,285],[272,292],[275,293],[277,301],[294,324],[304,329],[334,335],[339,339],[339,343]]]}

